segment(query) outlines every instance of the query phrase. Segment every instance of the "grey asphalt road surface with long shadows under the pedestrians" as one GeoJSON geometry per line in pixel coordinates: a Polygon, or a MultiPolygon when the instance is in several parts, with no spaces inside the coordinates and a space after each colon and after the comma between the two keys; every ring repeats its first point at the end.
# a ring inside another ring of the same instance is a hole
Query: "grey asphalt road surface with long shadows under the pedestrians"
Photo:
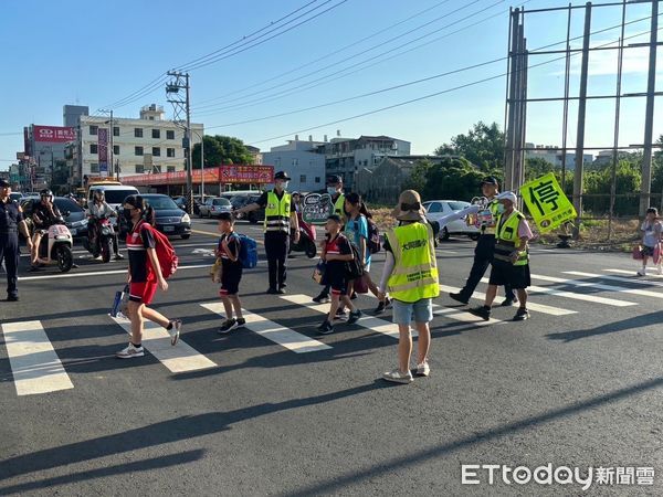
{"type": "MultiPolygon", "coordinates": [[[[496,308],[485,325],[444,293],[430,378],[391,385],[380,379],[396,366],[389,314],[371,319],[376,302],[361,296],[366,319],[318,336],[323,314],[308,299],[319,288],[303,254],[288,262],[286,296],[264,295],[264,262],[245,272],[250,329],[218,335],[214,229],[196,220],[175,242],[181,268],[155,302],[183,320],[181,342],[146,340],[139,359],[114,357],[127,335],[108,309],[126,262],[80,248],[70,274],[22,272],[21,300],[0,303],[0,495],[583,493],[490,485],[486,473],[461,483],[462,465],[548,463],[593,467],[594,495],[662,494],[663,276],[635,278],[627,255],[535,248],[530,320],[496,308]],[[653,486],[599,485],[600,466],[652,467],[653,486]]],[[[439,247],[443,285],[462,286],[473,245],[439,247]]]]}

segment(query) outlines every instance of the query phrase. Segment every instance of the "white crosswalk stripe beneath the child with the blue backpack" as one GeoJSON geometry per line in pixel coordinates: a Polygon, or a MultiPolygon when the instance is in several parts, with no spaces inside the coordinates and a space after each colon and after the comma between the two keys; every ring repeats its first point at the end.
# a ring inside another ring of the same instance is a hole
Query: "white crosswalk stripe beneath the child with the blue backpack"
{"type": "MultiPolygon", "coordinates": [[[[223,304],[221,303],[201,304],[201,306],[221,317],[225,317],[223,304]]],[[[281,326],[277,322],[271,321],[257,314],[242,309],[242,315],[244,316],[244,319],[246,319],[246,328],[249,328],[251,331],[273,341],[274,343],[285,347],[293,352],[318,352],[320,350],[327,350],[332,348],[327,343],[314,340],[306,335],[298,334],[297,331],[281,326]]]]}

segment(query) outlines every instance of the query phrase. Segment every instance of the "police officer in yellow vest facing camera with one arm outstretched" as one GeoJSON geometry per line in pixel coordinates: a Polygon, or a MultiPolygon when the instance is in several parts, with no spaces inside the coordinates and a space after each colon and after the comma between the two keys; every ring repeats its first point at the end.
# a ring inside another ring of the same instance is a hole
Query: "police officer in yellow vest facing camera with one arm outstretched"
{"type": "Polygon", "coordinates": [[[299,241],[299,223],[295,204],[286,191],[288,176],[284,171],[274,175],[274,189],[265,191],[254,203],[235,210],[235,214],[245,214],[257,209],[265,209],[265,253],[267,255],[267,271],[270,273],[270,287],[267,294],[285,294],[285,262],[290,248],[290,233],[293,231],[293,241],[299,241]]]}

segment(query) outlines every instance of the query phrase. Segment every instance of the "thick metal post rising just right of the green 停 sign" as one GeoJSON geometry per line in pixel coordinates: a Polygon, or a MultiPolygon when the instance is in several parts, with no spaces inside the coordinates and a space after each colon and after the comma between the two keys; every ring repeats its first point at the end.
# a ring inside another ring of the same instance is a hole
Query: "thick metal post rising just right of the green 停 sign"
{"type": "Polygon", "coordinates": [[[589,70],[589,38],[591,29],[591,2],[585,7],[585,34],[582,39],[582,63],[580,65],[580,94],[578,101],[578,135],[576,138],[576,170],[573,171],[573,205],[578,213],[575,235],[578,236],[582,218],[582,169],[585,156],[585,116],[587,112],[587,75],[589,70]]]}

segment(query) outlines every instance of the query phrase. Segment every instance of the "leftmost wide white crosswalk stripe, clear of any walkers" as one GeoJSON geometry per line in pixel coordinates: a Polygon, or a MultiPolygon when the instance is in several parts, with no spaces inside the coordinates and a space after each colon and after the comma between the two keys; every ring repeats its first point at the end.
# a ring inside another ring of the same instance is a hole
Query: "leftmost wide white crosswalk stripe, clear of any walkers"
{"type": "Polygon", "coordinates": [[[74,388],[40,321],[7,322],[1,328],[17,394],[74,388]]]}

